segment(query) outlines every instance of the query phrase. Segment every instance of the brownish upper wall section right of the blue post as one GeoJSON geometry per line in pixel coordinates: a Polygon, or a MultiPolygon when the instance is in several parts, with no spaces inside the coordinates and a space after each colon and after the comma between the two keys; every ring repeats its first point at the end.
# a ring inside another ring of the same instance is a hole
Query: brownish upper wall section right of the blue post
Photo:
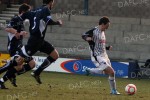
{"type": "Polygon", "coordinates": [[[90,15],[150,17],[150,0],[89,0],[90,15]]]}

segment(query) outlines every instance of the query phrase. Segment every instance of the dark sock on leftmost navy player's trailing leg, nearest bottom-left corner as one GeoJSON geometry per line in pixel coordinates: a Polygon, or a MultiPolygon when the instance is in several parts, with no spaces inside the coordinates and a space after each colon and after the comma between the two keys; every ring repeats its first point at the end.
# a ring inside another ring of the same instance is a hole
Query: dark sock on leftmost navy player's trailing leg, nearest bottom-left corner
{"type": "Polygon", "coordinates": [[[0,79],[2,82],[6,82],[8,79],[15,78],[15,73],[17,70],[15,68],[9,69],[4,76],[0,79]]]}

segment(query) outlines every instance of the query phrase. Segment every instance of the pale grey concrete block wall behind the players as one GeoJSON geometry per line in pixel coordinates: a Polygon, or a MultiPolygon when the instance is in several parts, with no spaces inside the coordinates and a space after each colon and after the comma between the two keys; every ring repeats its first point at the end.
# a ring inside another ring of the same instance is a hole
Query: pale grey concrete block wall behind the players
{"type": "MultiPolygon", "coordinates": [[[[53,19],[57,20],[56,15],[53,19]]],[[[99,16],[65,16],[62,27],[49,26],[45,39],[52,43],[61,57],[89,58],[88,44],[81,34],[95,27],[99,16]]],[[[145,61],[150,58],[150,19],[110,17],[111,25],[106,31],[108,51],[112,60],[137,59],[145,61]]],[[[26,30],[28,30],[28,25],[26,30]]],[[[0,51],[6,52],[7,34],[0,32],[0,51]]],[[[27,38],[25,38],[25,42],[27,38]]]]}

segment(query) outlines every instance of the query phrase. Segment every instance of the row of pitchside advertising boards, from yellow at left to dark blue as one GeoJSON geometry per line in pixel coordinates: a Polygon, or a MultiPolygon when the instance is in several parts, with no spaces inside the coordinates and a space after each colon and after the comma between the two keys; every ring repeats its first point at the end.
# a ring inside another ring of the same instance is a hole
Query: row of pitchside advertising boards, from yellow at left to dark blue
{"type": "MultiPolygon", "coordinates": [[[[42,56],[33,56],[37,69],[38,66],[44,61],[46,57],[42,56]]],[[[0,54],[0,66],[4,65],[4,60],[10,59],[9,54],[0,54]]],[[[135,72],[137,67],[135,62],[111,62],[116,77],[121,78],[133,78],[137,75],[135,72]]],[[[95,68],[95,65],[91,60],[82,60],[82,59],[71,59],[71,58],[59,58],[57,61],[48,66],[44,71],[52,72],[63,72],[63,73],[73,73],[73,74],[85,74],[86,68],[95,68]]],[[[101,75],[100,75],[101,76],[101,75]]],[[[103,76],[103,75],[102,75],[103,76]]]]}

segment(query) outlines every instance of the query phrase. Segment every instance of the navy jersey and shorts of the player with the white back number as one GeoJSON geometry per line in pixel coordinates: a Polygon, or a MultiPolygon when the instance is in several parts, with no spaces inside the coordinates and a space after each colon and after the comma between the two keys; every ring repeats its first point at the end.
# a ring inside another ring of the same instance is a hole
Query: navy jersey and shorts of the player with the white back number
{"type": "Polygon", "coordinates": [[[60,23],[51,19],[50,9],[47,6],[42,6],[36,11],[26,12],[18,18],[20,18],[22,21],[25,19],[29,19],[30,21],[30,37],[27,45],[21,48],[22,52],[20,52],[19,55],[22,57],[30,57],[37,51],[46,53],[48,55],[51,54],[51,52],[54,50],[54,47],[44,40],[46,29],[48,25],[60,25],[60,23]]]}

